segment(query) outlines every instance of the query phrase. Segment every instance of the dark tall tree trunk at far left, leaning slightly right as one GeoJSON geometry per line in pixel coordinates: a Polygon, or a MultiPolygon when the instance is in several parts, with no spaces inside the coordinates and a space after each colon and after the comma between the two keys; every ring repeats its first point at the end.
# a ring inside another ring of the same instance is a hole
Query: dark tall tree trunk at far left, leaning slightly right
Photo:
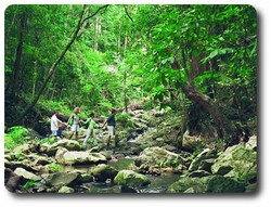
{"type": "Polygon", "coordinates": [[[20,78],[20,70],[21,70],[21,62],[22,62],[22,54],[23,54],[23,44],[24,44],[24,34],[27,24],[27,16],[23,15],[20,18],[20,36],[18,36],[18,44],[16,48],[15,54],[15,62],[13,65],[13,73],[12,78],[10,81],[10,93],[9,96],[11,99],[16,96],[16,92],[18,91],[18,78],[20,78]]]}

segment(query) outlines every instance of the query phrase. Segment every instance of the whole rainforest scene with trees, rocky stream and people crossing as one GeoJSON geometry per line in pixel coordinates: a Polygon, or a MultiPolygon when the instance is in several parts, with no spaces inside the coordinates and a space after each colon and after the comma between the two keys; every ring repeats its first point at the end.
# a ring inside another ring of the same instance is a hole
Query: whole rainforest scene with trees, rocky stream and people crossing
{"type": "Polygon", "coordinates": [[[10,5],[5,186],[254,192],[257,64],[250,5],[10,5]]]}

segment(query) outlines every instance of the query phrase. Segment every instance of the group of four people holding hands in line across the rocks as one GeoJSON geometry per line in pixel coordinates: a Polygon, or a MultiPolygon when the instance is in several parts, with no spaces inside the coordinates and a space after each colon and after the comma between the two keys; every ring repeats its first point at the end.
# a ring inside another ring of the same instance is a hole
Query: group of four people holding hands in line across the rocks
{"type": "Polygon", "coordinates": [[[116,109],[112,109],[111,115],[105,119],[105,121],[102,125],[98,125],[94,120],[94,113],[90,113],[89,117],[87,118],[86,121],[80,119],[79,117],[80,114],[80,108],[76,107],[74,109],[74,113],[69,116],[67,122],[63,122],[62,120],[59,119],[60,111],[55,111],[54,115],[51,117],[51,131],[52,131],[52,137],[57,137],[59,139],[62,138],[62,130],[63,127],[67,128],[70,126],[70,131],[68,133],[68,139],[70,139],[74,134],[76,135],[76,141],[79,139],[79,131],[80,131],[80,125],[87,125],[87,135],[83,140],[83,146],[87,147],[88,145],[88,139],[91,137],[93,139],[93,144],[96,145],[96,135],[94,132],[94,129],[100,128],[104,129],[104,127],[107,125],[107,130],[108,130],[108,138],[106,140],[106,145],[109,146],[111,144],[111,139],[115,135],[115,146],[118,146],[118,135],[116,133],[116,119],[115,115],[117,114],[116,109]]]}

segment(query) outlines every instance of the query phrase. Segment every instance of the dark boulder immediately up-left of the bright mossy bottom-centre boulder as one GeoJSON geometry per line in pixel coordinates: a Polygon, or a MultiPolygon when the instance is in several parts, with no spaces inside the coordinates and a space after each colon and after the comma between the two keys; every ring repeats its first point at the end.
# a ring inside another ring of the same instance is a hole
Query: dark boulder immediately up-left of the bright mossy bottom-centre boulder
{"type": "Polygon", "coordinates": [[[94,177],[95,181],[104,182],[107,179],[113,180],[118,171],[105,164],[100,164],[91,170],[91,176],[94,177]]]}

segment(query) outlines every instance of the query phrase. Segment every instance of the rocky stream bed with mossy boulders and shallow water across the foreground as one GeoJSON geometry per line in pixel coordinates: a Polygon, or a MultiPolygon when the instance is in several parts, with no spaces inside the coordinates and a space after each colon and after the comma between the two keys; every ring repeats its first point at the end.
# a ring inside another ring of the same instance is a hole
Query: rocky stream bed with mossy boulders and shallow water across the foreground
{"type": "Polygon", "coordinates": [[[248,193],[257,189],[257,137],[225,150],[185,133],[181,118],[134,112],[119,147],[33,138],[5,150],[5,186],[15,193],[248,193]],[[197,147],[201,146],[201,147],[197,147]]]}

